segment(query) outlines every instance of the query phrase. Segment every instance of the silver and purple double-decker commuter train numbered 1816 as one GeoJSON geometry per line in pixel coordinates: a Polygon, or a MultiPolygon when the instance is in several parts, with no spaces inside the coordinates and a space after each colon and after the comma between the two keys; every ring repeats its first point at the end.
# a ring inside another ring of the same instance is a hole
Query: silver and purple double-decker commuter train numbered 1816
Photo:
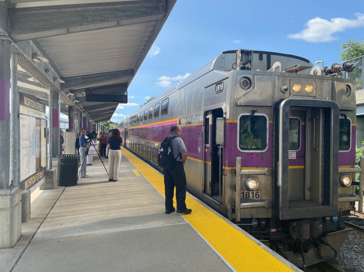
{"type": "MultiPolygon", "coordinates": [[[[158,169],[180,125],[188,191],[297,266],[335,257],[355,196],[353,65],[226,51],[118,124],[158,169]]],[[[161,170],[161,169],[159,169],[161,170]]]]}

